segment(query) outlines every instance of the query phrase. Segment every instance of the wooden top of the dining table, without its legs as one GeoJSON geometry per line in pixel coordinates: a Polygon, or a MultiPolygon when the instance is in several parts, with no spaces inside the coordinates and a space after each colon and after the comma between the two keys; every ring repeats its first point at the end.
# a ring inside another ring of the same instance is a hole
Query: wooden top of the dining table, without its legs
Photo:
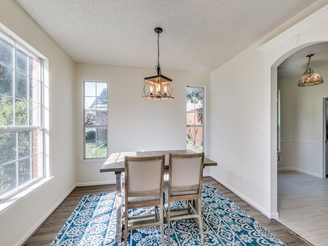
{"type": "MultiPolygon", "coordinates": [[[[169,166],[169,153],[192,154],[191,150],[165,150],[165,151],[140,151],[140,152],[117,152],[112,153],[100,168],[100,172],[124,172],[124,157],[127,156],[155,156],[165,155],[165,166],[169,166]]],[[[217,166],[217,162],[204,157],[204,167],[217,166]]]]}

